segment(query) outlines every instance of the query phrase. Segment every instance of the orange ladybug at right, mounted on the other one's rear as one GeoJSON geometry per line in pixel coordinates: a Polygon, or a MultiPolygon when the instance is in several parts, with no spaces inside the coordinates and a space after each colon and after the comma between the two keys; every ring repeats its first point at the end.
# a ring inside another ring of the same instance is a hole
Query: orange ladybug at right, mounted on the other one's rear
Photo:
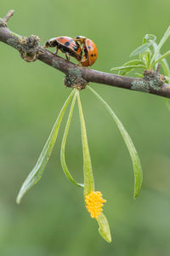
{"type": "Polygon", "coordinates": [[[82,45],[82,52],[84,52],[84,55],[82,55],[82,59],[80,61],[82,66],[92,66],[98,57],[98,49],[94,42],[82,36],[77,36],[77,38],[74,40],[75,42],[79,42],[79,44],[82,45]]]}

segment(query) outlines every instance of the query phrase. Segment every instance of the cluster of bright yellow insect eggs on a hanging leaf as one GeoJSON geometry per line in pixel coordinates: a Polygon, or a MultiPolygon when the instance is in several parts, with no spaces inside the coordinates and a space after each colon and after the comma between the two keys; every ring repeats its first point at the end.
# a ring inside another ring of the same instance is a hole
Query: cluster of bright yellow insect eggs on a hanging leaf
{"type": "Polygon", "coordinates": [[[91,218],[98,218],[99,214],[103,211],[102,207],[105,199],[99,191],[91,191],[85,196],[86,208],[90,212],[91,218]]]}

